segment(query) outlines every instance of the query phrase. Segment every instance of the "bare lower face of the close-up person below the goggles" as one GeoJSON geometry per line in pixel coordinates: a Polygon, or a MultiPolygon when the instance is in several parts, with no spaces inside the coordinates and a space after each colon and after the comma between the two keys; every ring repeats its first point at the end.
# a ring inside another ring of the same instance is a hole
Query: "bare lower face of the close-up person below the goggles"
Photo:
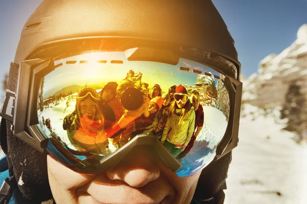
{"type": "Polygon", "coordinates": [[[77,173],[47,156],[56,203],[190,203],[200,176],[180,178],[155,159],[148,147],[136,147],[113,168],[96,175],[77,173]]]}

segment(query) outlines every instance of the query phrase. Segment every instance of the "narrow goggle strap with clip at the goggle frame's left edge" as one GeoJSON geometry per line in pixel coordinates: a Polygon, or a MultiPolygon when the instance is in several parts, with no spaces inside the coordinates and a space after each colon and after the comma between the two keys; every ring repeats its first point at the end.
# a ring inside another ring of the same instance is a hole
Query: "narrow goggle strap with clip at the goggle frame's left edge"
{"type": "Polygon", "coordinates": [[[10,121],[14,120],[18,73],[19,65],[11,62],[5,98],[0,110],[0,116],[10,121]]]}

